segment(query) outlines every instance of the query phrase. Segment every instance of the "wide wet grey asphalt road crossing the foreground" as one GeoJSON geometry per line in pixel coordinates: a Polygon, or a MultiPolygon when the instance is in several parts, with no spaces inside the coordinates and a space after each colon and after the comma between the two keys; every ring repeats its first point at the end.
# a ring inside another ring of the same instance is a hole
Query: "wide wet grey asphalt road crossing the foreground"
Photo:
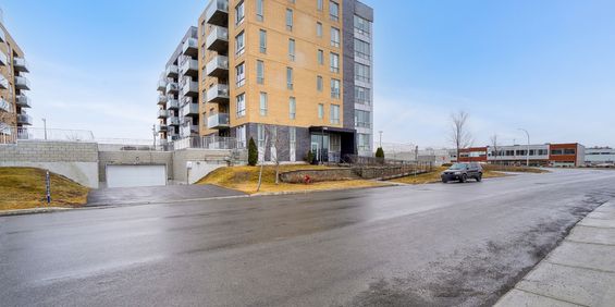
{"type": "Polygon", "coordinates": [[[490,305],[614,182],[561,170],[0,218],[0,305],[490,305]]]}

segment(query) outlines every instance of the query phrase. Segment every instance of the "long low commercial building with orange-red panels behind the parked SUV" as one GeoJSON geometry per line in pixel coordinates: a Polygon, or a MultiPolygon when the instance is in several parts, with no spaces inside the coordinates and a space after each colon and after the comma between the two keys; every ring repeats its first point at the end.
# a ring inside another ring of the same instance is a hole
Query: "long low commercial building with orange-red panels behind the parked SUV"
{"type": "Polygon", "coordinates": [[[459,150],[460,162],[496,164],[528,163],[533,167],[580,167],[586,149],[578,143],[472,147],[459,150]],[[529,150],[529,151],[528,151],[529,150]]]}

